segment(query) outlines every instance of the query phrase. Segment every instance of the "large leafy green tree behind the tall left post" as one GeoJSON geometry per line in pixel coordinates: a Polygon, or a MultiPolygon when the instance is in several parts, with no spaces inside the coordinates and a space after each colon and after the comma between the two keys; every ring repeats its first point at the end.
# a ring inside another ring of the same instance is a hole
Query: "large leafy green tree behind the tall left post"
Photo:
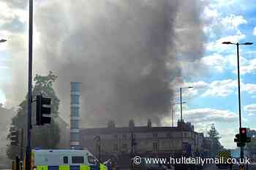
{"type": "MultiPolygon", "coordinates": [[[[42,94],[51,98],[51,116],[52,122],[48,125],[37,126],[33,125],[31,130],[31,146],[40,147],[42,149],[55,149],[60,139],[60,129],[57,123],[54,121],[59,114],[59,98],[56,96],[53,90],[53,82],[55,82],[57,76],[53,72],[49,72],[46,76],[36,75],[34,77],[34,87],[32,90],[33,100],[36,99],[36,95],[42,94]]],[[[26,148],[26,123],[27,123],[27,98],[19,104],[18,112],[15,117],[12,117],[12,126],[18,129],[24,129],[23,136],[23,150],[26,148]]],[[[32,124],[36,123],[36,104],[32,104],[32,124]]],[[[11,131],[11,129],[10,129],[11,131]]],[[[7,136],[10,139],[10,134],[7,136]]],[[[9,158],[15,158],[15,155],[19,155],[20,147],[9,146],[7,148],[7,155],[9,158]]]]}

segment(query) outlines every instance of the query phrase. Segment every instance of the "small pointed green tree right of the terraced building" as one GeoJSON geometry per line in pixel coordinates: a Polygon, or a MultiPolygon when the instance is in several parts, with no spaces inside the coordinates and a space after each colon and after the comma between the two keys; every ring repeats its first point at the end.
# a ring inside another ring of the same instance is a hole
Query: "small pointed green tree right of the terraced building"
{"type": "Polygon", "coordinates": [[[219,150],[223,149],[223,146],[219,142],[219,139],[221,139],[221,137],[219,136],[219,132],[214,127],[214,124],[211,125],[211,129],[210,131],[208,131],[208,136],[211,140],[211,157],[215,157],[219,150]]]}

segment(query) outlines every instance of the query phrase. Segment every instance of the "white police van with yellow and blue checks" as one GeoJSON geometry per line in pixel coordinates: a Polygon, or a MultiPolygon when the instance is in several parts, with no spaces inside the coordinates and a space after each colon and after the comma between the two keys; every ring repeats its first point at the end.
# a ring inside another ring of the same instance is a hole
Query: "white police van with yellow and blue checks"
{"type": "Polygon", "coordinates": [[[107,170],[89,150],[32,150],[31,168],[37,170],[107,170]]]}

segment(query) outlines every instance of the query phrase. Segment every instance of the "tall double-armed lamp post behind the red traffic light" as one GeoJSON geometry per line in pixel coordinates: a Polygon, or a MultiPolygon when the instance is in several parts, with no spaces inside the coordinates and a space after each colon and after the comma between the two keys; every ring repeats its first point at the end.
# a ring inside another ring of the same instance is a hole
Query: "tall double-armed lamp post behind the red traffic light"
{"type": "MultiPolygon", "coordinates": [[[[241,94],[240,94],[240,63],[239,63],[239,45],[252,45],[252,42],[245,42],[245,43],[233,43],[233,42],[222,42],[224,45],[236,45],[236,54],[237,54],[237,77],[238,77],[238,107],[239,107],[239,128],[242,127],[241,123],[241,94]]],[[[240,157],[244,158],[244,146],[240,147],[240,157]]]]}

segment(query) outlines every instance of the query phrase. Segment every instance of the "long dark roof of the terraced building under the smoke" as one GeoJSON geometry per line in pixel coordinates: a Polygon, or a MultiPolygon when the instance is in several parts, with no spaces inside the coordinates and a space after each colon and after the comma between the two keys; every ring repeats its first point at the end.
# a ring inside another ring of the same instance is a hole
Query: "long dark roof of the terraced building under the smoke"
{"type": "Polygon", "coordinates": [[[129,127],[117,127],[117,128],[82,128],[80,129],[80,134],[122,134],[122,133],[151,133],[151,132],[162,132],[162,131],[181,131],[181,128],[170,127],[170,126],[160,126],[160,127],[150,127],[147,126],[135,126],[133,128],[129,127]]]}

